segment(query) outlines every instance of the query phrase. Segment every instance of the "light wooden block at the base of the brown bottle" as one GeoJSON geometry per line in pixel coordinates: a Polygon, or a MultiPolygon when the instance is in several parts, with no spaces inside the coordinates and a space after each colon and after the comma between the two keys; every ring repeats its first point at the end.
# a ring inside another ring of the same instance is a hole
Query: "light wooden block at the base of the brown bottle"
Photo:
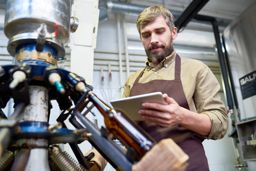
{"type": "Polygon", "coordinates": [[[189,156],[172,139],[161,140],[132,166],[132,171],[184,171],[189,156]]]}

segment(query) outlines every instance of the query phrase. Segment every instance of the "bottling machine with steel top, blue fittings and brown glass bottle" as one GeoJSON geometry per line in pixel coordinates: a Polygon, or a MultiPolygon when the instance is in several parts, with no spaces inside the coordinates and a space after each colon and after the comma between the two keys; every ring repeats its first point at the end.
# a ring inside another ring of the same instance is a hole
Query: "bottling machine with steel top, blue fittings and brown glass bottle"
{"type": "Polygon", "coordinates": [[[0,106],[13,98],[15,110],[9,118],[0,111],[0,170],[89,170],[93,156],[84,157],[78,147],[85,140],[114,168],[132,170],[157,145],[123,111],[97,98],[82,77],[58,68],[70,31],[78,28],[70,7],[70,0],[7,1],[4,31],[15,63],[0,67],[0,106]],[[51,100],[63,111],[56,125],[48,124],[51,100]],[[104,116],[106,128],[87,119],[92,108],[104,116]],[[76,129],[68,129],[66,120],[76,129]],[[57,145],[66,143],[79,164],[57,145]]]}

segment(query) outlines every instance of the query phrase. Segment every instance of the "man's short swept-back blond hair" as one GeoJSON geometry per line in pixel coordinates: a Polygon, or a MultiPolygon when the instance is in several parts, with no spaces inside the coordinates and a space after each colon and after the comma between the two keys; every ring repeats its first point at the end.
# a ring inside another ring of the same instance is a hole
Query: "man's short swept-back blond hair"
{"type": "Polygon", "coordinates": [[[148,25],[149,22],[154,21],[157,17],[163,16],[165,18],[165,22],[169,26],[170,30],[172,31],[174,28],[174,17],[172,13],[168,9],[162,6],[150,6],[144,11],[142,11],[137,18],[136,26],[137,30],[140,34],[140,28],[145,27],[148,25]]]}

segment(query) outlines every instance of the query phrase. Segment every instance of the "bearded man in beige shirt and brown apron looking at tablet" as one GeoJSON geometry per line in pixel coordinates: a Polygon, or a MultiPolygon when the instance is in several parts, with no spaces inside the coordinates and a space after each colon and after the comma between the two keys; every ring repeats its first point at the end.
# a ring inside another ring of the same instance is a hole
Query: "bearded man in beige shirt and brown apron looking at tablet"
{"type": "Polygon", "coordinates": [[[165,7],[151,6],[137,18],[148,56],[143,70],[127,79],[123,97],[162,92],[166,105],[143,103],[136,122],[157,142],[173,139],[189,156],[187,170],[209,170],[202,141],[221,139],[228,117],[220,84],[202,62],[181,58],[173,48],[174,17],[165,7]]]}

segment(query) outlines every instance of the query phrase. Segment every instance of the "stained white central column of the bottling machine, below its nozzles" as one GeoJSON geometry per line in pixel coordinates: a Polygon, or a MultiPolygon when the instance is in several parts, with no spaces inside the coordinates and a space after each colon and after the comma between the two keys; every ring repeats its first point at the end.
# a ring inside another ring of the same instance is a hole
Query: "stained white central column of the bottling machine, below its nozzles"
{"type": "MultiPolygon", "coordinates": [[[[21,122],[48,123],[48,89],[41,86],[29,86],[30,104],[25,108],[21,122]]],[[[48,140],[20,139],[17,145],[32,146],[25,170],[50,170],[48,163],[48,140]]]]}

